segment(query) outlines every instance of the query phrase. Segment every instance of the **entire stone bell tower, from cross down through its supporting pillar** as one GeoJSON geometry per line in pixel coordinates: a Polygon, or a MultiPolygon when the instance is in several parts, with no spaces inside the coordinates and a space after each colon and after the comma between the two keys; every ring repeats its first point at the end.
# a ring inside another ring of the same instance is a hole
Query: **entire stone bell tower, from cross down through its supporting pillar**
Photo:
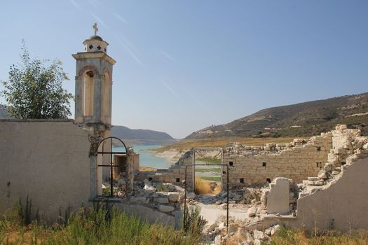
{"type": "Polygon", "coordinates": [[[102,180],[109,176],[108,168],[98,167],[109,161],[109,155],[97,155],[97,151],[111,147],[110,141],[102,145],[100,142],[111,137],[112,66],[115,64],[107,55],[109,43],[97,36],[96,23],[93,29],[95,35],[83,42],[84,52],[72,55],[76,59],[74,123],[89,130],[91,198],[102,194],[102,180]]]}

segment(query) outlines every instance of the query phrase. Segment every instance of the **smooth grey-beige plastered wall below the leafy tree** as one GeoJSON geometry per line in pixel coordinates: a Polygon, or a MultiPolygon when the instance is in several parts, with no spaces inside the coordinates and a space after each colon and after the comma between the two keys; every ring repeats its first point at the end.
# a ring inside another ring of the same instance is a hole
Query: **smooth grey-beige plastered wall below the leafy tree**
{"type": "Polygon", "coordinates": [[[22,198],[32,216],[55,222],[59,210],[88,204],[88,132],[71,120],[0,120],[0,212],[22,198]]]}

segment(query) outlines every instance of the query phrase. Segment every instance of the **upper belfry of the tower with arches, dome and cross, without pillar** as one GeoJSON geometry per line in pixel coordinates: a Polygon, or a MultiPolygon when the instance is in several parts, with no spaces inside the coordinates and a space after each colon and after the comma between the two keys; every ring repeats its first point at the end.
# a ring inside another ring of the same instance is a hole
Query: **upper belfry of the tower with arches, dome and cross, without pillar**
{"type": "Polygon", "coordinates": [[[112,66],[107,43],[95,35],[83,42],[84,51],[72,55],[76,59],[75,123],[105,131],[111,127],[112,66]]]}

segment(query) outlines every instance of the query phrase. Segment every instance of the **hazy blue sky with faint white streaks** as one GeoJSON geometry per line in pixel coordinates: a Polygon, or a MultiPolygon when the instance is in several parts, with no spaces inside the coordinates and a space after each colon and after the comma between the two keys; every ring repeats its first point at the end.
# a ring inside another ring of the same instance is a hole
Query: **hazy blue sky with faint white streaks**
{"type": "Polygon", "coordinates": [[[367,0],[4,1],[0,80],[24,38],[33,57],[62,60],[74,93],[71,54],[95,22],[117,61],[114,125],[181,138],[266,107],[368,91],[367,0]]]}

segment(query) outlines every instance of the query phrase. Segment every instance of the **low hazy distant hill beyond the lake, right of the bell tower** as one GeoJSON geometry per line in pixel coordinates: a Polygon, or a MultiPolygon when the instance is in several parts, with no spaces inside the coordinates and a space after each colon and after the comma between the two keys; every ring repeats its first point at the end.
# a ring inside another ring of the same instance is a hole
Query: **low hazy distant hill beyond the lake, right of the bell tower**
{"type": "Polygon", "coordinates": [[[128,145],[164,145],[175,143],[170,134],[154,130],[131,130],[124,126],[112,127],[111,135],[127,141],[128,145]]]}

